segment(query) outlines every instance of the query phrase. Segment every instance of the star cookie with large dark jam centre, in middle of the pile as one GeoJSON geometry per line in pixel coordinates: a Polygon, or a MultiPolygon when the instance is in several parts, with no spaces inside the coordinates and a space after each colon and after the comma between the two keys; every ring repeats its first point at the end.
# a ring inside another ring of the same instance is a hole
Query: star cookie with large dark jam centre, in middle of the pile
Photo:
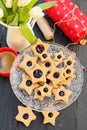
{"type": "Polygon", "coordinates": [[[39,64],[29,70],[29,75],[33,83],[46,82],[46,70],[44,70],[39,64]]]}

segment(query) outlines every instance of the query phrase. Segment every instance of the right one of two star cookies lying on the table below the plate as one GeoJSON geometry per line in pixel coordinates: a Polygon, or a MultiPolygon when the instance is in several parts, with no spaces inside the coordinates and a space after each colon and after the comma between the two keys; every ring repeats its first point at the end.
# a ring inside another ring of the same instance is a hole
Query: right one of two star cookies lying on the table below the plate
{"type": "Polygon", "coordinates": [[[43,124],[50,123],[51,125],[55,126],[55,120],[59,116],[59,112],[42,112],[42,115],[44,116],[43,124]]]}

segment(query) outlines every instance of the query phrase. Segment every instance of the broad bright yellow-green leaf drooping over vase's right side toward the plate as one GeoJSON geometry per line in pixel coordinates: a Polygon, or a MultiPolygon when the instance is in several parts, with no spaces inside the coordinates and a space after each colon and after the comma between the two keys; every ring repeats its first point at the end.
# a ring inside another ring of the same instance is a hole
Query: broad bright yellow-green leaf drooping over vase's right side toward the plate
{"type": "Polygon", "coordinates": [[[31,29],[27,24],[20,24],[19,29],[23,36],[31,43],[34,44],[37,40],[36,36],[33,34],[31,29]]]}

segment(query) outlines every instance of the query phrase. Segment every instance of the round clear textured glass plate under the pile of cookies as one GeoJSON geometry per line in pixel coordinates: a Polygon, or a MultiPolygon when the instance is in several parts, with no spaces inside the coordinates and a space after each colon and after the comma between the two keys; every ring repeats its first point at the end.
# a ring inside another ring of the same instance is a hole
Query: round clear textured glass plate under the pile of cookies
{"type": "Polygon", "coordinates": [[[33,110],[36,110],[39,112],[41,112],[41,111],[50,111],[50,112],[59,111],[59,110],[62,110],[64,108],[68,107],[70,104],[72,104],[74,101],[76,101],[76,99],[80,95],[82,86],[83,86],[83,80],[84,80],[83,70],[81,68],[80,61],[77,58],[77,56],[75,55],[75,53],[70,51],[66,47],[59,45],[59,44],[50,43],[50,47],[48,49],[49,53],[54,55],[54,53],[57,53],[60,50],[63,51],[65,57],[71,56],[73,59],[76,60],[76,63],[74,65],[76,78],[72,80],[70,87],[66,87],[66,89],[69,89],[73,92],[72,96],[69,98],[69,103],[67,105],[65,105],[63,103],[55,104],[53,95],[50,98],[44,99],[43,101],[36,100],[36,99],[34,99],[34,92],[31,95],[28,95],[25,91],[20,90],[18,88],[19,84],[21,83],[22,74],[25,73],[23,70],[18,68],[18,65],[21,62],[21,60],[23,59],[23,56],[25,54],[33,56],[33,52],[28,47],[17,56],[17,58],[15,59],[13,65],[12,65],[11,74],[10,74],[10,83],[11,83],[12,90],[15,93],[15,95],[17,96],[17,98],[25,106],[29,106],[33,110]]]}

